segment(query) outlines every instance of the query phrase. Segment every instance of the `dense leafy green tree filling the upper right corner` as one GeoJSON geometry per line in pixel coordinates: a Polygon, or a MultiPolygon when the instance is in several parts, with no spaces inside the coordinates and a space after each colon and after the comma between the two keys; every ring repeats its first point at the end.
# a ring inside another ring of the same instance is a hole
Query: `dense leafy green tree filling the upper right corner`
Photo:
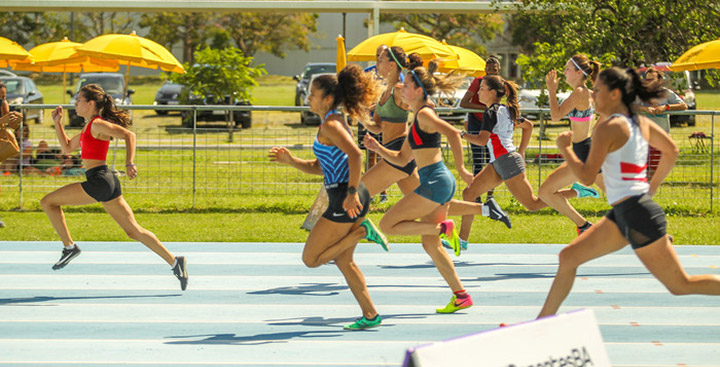
{"type": "Polygon", "coordinates": [[[517,7],[510,18],[513,43],[535,58],[565,50],[566,57],[612,55],[613,65],[636,67],[674,61],[720,37],[714,0],[525,0],[517,7]]]}

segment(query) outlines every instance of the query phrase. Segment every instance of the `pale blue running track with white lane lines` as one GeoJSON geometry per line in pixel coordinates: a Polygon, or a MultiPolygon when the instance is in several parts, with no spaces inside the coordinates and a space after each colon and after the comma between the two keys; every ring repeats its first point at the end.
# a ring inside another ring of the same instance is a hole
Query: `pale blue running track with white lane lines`
{"type": "MultiPolygon", "coordinates": [[[[420,344],[535,317],[562,245],[470,244],[454,257],[475,306],[452,295],[418,244],[361,243],[356,261],[384,323],[360,309],[333,265],[302,244],[167,243],[188,290],[138,243],[0,241],[0,366],[399,366],[420,344]]],[[[720,274],[720,247],[676,246],[688,273],[720,274]]],[[[613,366],[720,367],[720,297],[670,295],[629,248],[581,267],[562,312],[591,308],[613,366]]],[[[470,363],[472,365],[472,363],[470,363]]]]}

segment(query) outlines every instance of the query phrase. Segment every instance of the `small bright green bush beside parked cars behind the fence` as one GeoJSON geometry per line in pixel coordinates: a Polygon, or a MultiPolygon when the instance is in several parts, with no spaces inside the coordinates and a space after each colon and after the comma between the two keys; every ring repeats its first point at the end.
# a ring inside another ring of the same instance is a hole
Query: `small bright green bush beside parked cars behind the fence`
{"type": "Polygon", "coordinates": [[[253,66],[253,58],[246,57],[237,48],[215,50],[206,48],[195,53],[194,65],[185,63],[185,74],[172,74],[170,80],[183,84],[188,94],[201,97],[231,95],[239,100],[250,100],[255,78],[266,74],[263,65],[253,66]]]}

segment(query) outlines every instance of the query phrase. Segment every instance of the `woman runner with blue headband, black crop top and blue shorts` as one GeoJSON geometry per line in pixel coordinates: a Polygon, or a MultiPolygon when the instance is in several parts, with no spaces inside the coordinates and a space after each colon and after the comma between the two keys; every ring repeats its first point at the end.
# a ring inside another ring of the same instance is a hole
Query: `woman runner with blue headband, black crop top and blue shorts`
{"type": "Polygon", "coordinates": [[[420,185],[391,207],[380,221],[380,228],[393,235],[421,235],[425,252],[430,256],[443,279],[453,292],[450,302],[438,313],[453,313],[473,305],[472,297],[463,288],[450,256],[440,245],[440,237],[452,244],[460,254],[455,223],[446,220],[450,201],[455,194],[455,177],[443,163],[442,135],[447,137],[455,168],[466,182],[472,174],[465,169],[460,131],[440,119],[428,105],[428,96],[437,90],[452,92],[462,77],[433,75],[437,64],[430,62],[428,70],[422,66],[411,69],[402,86],[403,101],[415,113],[407,138],[399,151],[387,149],[376,140],[367,140],[368,149],[377,151],[388,162],[404,165],[415,159],[419,167],[420,185]]]}

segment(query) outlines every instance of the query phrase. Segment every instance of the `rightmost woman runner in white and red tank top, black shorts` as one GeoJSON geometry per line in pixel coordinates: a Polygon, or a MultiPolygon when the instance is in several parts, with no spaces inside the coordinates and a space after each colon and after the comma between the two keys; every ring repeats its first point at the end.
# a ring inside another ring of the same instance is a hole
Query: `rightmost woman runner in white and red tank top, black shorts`
{"type": "Polygon", "coordinates": [[[601,116],[593,143],[583,162],[572,150],[571,131],[557,139],[568,166],[583,184],[595,180],[602,167],[608,202],[607,215],[560,252],[560,265],[539,317],[555,314],[570,293],[577,268],[592,259],[627,246],[645,267],[675,295],[720,295],[720,276],[688,275],[680,265],[665,229],[665,213],[652,200],[677,160],[670,136],[632,110],[636,98],[661,97],[660,82],[643,82],[633,69],[612,68],[600,73],[594,86],[595,109],[601,116]],[[648,144],[662,152],[652,179],[647,179],[648,144]]]}

